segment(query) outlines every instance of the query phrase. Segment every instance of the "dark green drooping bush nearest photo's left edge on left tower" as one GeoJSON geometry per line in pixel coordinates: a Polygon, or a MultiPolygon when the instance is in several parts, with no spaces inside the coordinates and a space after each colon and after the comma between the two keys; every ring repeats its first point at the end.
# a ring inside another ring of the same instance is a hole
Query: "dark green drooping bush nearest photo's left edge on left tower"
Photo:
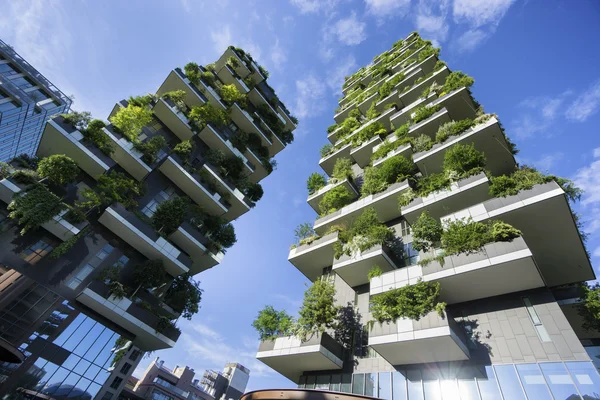
{"type": "Polygon", "coordinates": [[[60,197],[41,184],[16,193],[7,207],[8,216],[22,225],[21,235],[37,229],[65,208],[60,197]]]}

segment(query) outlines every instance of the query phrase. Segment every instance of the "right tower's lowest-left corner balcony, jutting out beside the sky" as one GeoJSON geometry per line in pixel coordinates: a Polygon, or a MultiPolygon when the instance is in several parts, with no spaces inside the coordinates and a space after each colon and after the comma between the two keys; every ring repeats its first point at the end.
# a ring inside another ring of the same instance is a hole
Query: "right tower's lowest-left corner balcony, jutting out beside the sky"
{"type": "Polygon", "coordinates": [[[281,375],[298,382],[305,371],[341,369],[344,349],[327,333],[306,342],[293,336],[261,342],[256,358],[281,375]]]}

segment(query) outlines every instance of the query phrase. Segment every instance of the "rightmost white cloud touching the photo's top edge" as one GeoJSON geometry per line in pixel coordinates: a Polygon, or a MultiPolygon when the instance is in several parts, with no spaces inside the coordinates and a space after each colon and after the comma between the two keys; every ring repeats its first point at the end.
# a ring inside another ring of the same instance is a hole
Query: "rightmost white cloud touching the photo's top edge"
{"type": "Polygon", "coordinates": [[[454,0],[453,15],[456,23],[466,22],[472,28],[500,23],[515,0],[454,0]]]}

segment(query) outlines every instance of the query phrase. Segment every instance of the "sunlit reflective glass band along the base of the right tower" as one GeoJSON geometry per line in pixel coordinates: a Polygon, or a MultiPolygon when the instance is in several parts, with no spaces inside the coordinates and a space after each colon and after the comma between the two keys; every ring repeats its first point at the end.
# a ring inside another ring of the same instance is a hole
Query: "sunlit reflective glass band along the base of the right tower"
{"type": "Polygon", "coordinates": [[[299,388],[386,400],[600,400],[600,375],[591,362],[486,366],[424,365],[366,374],[302,376],[299,388]],[[346,378],[346,385],[341,385],[346,378]],[[350,382],[351,379],[351,382],[350,382]]]}

